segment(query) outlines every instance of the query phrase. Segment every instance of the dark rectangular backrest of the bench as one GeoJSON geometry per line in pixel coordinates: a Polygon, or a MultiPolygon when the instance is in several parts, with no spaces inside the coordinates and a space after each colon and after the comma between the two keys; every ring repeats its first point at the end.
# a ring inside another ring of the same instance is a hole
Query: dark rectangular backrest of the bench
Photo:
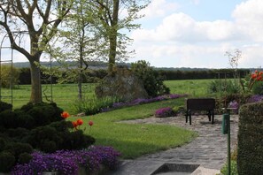
{"type": "Polygon", "coordinates": [[[189,98],[186,104],[187,110],[214,110],[214,98],[189,98]]]}

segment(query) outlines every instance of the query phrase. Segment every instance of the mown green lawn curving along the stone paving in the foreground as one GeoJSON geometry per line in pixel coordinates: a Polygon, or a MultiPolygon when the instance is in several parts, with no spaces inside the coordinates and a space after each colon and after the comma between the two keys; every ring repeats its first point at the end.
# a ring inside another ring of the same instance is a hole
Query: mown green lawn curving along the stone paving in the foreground
{"type": "MultiPolygon", "coordinates": [[[[136,105],[120,110],[112,110],[84,117],[85,133],[96,138],[97,145],[112,146],[119,150],[123,158],[135,158],[167,148],[175,148],[192,141],[197,133],[176,126],[123,124],[120,120],[149,118],[162,107],[182,105],[184,98],[157,103],[136,105]],[[89,128],[92,120],[94,126],[89,128]]],[[[76,118],[71,118],[76,119],[76,118]]]]}

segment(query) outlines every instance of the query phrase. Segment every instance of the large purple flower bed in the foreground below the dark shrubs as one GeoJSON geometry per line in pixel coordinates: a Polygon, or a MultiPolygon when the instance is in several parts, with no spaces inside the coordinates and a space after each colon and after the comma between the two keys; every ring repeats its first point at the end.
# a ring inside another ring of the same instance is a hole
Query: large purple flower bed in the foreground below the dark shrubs
{"type": "Polygon", "coordinates": [[[101,165],[112,170],[119,164],[120,153],[111,147],[91,147],[82,150],[58,150],[52,154],[35,151],[28,164],[17,164],[12,169],[15,175],[43,174],[44,171],[57,171],[60,175],[77,175],[80,167],[86,172],[99,171],[101,165]]]}

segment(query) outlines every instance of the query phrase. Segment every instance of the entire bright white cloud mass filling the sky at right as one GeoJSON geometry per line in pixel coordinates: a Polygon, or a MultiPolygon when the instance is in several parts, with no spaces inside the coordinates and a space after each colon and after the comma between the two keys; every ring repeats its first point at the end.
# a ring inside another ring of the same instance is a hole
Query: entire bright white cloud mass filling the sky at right
{"type": "MultiPolygon", "coordinates": [[[[161,2],[165,5],[165,1],[161,2]]],[[[262,9],[262,0],[248,0],[236,5],[232,20],[214,21],[197,21],[174,11],[157,27],[131,34],[136,59],[145,59],[159,67],[226,68],[229,64],[225,52],[241,49],[239,67],[262,66],[262,9]]]]}

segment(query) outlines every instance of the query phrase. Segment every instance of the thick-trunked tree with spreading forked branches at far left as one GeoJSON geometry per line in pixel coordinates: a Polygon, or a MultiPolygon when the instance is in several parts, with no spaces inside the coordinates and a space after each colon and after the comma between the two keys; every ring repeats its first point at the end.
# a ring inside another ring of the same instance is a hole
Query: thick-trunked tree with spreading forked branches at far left
{"type": "Polygon", "coordinates": [[[0,2],[0,26],[8,34],[12,49],[27,57],[31,71],[30,102],[41,103],[40,57],[50,40],[58,32],[58,26],[70,11],[71,0],[2,0],[0,2]],[[29,49],[22,47],[16,35],[27,31],[29,49]],[[36,64],[35,64],[36,63],[36,64]]]}

